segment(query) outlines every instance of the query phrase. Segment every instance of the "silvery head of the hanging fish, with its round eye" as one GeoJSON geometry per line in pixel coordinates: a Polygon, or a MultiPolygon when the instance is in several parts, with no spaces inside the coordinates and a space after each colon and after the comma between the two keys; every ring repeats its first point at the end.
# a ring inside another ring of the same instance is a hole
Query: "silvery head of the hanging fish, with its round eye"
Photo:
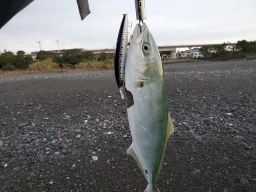
{"type": "Polygon", "coordinates": [[[161,56],[146,24],[136,25],[126,59],[127,69],[138,81],[163,78],[161,56]]]}

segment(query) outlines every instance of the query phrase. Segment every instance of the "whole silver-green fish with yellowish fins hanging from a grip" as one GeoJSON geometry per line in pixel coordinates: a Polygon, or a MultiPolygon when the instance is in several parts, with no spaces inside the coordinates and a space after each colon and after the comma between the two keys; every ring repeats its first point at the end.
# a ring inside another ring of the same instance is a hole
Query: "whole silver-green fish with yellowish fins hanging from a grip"
{"type": "Polygon", "coordinates": [[[145,176],[148,185],[144,192],[159,192],[156,180],[174,126],[160,53],[145,23],[136,25],[127,50],[125,96],[133,139],[126,153],[134,157],[145,176]]]}

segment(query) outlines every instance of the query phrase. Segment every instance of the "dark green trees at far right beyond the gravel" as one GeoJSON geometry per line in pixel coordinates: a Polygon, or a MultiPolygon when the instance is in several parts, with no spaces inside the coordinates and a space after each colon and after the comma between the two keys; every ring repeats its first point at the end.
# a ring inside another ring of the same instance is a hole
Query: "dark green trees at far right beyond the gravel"
{"type": "Polygon", "coordinates": [[[207,45],[199,49],[204,58],[216,58],[256,53],[256,41],[238,40],[236,45],[223,42],[221,45],[207,45]]]}

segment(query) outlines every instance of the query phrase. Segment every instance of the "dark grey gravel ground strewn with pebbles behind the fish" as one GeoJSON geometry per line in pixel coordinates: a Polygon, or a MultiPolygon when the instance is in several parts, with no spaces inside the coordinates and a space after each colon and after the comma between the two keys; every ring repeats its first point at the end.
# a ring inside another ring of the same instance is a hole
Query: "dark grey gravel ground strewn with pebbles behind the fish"
{"type": "MultiPolygon", "coordinates": [[[[256,61],[165,65],[157,186],[256,191],[256,61]]],[[[0,76],[0,191],[144,191],[113,71],[0,76]]]]}

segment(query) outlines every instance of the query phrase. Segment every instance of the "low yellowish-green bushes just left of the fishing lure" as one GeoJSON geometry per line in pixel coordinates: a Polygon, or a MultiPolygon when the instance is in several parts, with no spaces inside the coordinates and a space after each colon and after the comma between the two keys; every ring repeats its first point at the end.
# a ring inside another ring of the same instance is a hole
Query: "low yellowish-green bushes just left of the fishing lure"
{"type": "Polygon", "coordinates": [[[75,65],[76,69],[87,69],[87,70],[97,70],[97,69],[114,69],[114,59],[106,59],[103,61],[92,60],[79,62],[75,65]]]}

